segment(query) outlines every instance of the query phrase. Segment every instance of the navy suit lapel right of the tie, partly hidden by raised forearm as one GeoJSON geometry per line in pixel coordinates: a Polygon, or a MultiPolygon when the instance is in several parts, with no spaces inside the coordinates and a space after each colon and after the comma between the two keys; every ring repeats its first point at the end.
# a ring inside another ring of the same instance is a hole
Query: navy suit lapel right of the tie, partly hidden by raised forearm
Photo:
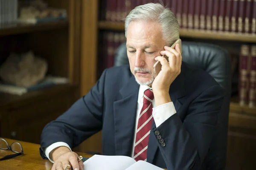
{"type": "MultiPolygon", "coordinates": [[[[186,94],[186,91],[184,88],[184,77],[185,77],[184,69],[185,68],[182,65],[180,74],[176,77],[174,82],[172,82],[169,88],[169,95],[175,106],[175,110],[177,113],[180,110],[180,107],[182,106],[182,102],[179,99],[182,99],[186,94]]],[[[147,161],[151,164],[153,163],[154,156],[158,149],[157,139],[156,139],[156,136],[154,135],[154,132],[152,131],[155,128],[156,128],[156,124],[153,120],[151,132],[149,134],[149,139],[148,139],[148,151],[147,151],[147,161]]]]}

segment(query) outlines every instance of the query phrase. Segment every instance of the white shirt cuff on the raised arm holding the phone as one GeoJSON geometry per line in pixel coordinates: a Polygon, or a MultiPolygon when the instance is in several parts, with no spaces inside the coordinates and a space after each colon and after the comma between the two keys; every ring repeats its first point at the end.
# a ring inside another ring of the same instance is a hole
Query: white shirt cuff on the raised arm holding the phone
{"type": "Polygon", "coordinates": [[[176,113],[173,102],[165,103],[153,108],[153,118],[156,127],[159,127],[164,121],[176,113]]]}

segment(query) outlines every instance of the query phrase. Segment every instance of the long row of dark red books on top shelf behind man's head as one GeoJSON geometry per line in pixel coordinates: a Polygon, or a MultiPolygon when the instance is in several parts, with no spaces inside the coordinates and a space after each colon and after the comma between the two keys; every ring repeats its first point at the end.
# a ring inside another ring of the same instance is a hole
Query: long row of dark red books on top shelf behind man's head
{"type": "MultiPolygon", "coordinates": [[[[136,6],[159,0],[101,0],[100,20],[124,21],[136,6]]],[[[161,0],[180,28],[256,34],[256,0],[161,0]]]]}

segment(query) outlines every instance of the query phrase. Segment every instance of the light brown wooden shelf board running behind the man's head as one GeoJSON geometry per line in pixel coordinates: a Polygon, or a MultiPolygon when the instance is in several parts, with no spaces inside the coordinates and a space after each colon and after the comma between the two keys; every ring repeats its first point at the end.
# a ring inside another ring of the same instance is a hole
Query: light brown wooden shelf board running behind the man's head
{"type": "MultiPolygon", "coordinates": [[[[108,22],[108,21],[99,21],[98,27],[102,30],[124,31],[125,24],[108,22]]],[[[242,33],[195,30],[195,29],[185,29],[185,28],[180,28],[180,37],[256,43],[256,34],[242,34],[242,33]]]]}

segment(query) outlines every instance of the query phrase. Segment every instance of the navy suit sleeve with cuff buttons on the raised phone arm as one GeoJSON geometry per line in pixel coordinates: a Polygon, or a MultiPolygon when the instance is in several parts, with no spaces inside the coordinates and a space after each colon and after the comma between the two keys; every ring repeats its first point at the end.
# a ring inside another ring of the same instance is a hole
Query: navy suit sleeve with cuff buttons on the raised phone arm
{"type": "Polygon", "coordinates": [[[212,86],[193,100],[183,122],[174,114],[153,127],[168,170],[201,169],[217,128],[223,97],[222,88],[212,86]]]}

